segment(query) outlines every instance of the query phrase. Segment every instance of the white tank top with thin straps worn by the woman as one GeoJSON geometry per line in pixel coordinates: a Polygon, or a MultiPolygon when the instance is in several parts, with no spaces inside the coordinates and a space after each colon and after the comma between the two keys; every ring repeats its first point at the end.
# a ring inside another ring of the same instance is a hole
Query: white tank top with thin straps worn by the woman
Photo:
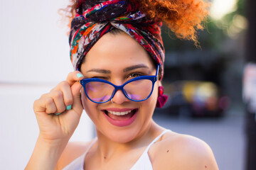
{"type": "MultiPolygon", "coordinates": [[[[137,162],[132,166],[131,169],[129,170],[153,170],[152,164],[150,162],[149,159],[149,148],[151,147],[151,145],[154,144],[154,142],[156,142],[157,140],[159,140],[159,138],[164,135],[164,133],[168,132],[170,130],[164,130],[163,132],[161,132],[161,134],[156,137],[144,150],[143,154],[141,157],[139,157],[139,159],[137,160],[137,162]]],[[[89,151],[90,147],[92,147],[93,144],[95,144],[95,142],[97,141],[97,138],[90,144],[90,146],[87,148],[85,154],[82,154],[80,157],[78,157],[77,159],[75,159],[73,162],[71,162],[70,164],[68,164],[68,166],[65,166],[65,168],[63,170],[83,170],[83,165],[85,163],[85,156],[87,154],[87,152],[89,151]]]]}

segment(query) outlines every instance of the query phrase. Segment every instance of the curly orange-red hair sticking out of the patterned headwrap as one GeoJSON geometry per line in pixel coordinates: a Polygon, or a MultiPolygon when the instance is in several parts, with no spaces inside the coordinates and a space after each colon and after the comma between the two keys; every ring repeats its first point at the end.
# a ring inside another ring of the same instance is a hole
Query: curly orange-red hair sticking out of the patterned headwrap
{"type": "MultiPolygon", "coordinates": [[[[149,18],[164,21],[177,38],[193,40],[198,46],[198,30],[203,29],[202,21],[208,16],[209,3],[203,0],[130,0],[137,1],[142,12],[149,18]]],[[[77,0],[70,0],[70,5],[65,9],[64,16],[70,21],[75,17],[77,0]]],[[[70,26],[70,23],[69,25],[70,26]]]]}

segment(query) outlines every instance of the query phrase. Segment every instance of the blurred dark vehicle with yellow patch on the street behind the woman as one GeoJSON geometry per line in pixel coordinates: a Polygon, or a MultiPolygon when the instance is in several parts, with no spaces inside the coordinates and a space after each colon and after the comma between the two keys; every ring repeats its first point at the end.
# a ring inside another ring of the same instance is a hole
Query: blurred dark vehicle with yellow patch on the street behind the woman
{"type": "Polygon", "coordinates": [[[156,111],[172,115],[196,117],[222,116],[230,104],[230,98],[221,94],[213,82],[176,81],[167,86],[169,99],[164,108],[156,111]]]}

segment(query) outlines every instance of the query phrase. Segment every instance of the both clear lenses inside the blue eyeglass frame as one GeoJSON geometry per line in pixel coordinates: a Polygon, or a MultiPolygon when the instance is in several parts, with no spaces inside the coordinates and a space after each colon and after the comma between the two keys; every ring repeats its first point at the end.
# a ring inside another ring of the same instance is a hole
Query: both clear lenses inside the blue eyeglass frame
{"type": "MultiPolygon", "coordinates": [[[[141,101],[147,98],[152,89],[152,81],[149,79],[139,79],[131,81],[124,86],[124,93],[129,99],[141,101]]],[[[87,96],[96,102],[108,101],[114,92],[114,86],[99,81],[91,81],[85,84],[87,96]]]]}

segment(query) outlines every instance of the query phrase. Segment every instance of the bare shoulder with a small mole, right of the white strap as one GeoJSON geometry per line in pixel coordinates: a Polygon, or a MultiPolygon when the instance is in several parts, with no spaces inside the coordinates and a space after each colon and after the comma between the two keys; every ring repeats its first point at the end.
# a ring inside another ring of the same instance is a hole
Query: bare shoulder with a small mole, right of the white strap
{"type": "Polygon", "coordinates": [[[169,132],[152,152],[154,169],[218,170],[212,149],[191,135],[169,132]]]}

